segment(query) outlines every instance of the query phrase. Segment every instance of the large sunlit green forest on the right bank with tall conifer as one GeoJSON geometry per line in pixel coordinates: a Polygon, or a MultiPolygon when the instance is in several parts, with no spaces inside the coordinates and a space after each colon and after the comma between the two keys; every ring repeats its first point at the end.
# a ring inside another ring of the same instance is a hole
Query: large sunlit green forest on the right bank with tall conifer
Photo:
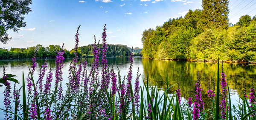
{"type": "Polygon", "coordinates": [[[143,31],[142,54],[155,59],[256,61],[256,17],[228,22],[228,0],[202,0],[203,9],[143,31]]]}

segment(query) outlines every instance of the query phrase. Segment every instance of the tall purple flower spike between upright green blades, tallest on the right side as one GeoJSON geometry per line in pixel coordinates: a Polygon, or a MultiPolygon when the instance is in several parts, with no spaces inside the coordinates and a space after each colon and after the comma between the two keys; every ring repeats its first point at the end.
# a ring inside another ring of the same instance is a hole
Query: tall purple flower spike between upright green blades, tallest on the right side
{"type": "Polygon", "coordinates": [[[223,70],[223,61],[221,64],[221,118],[226,119],[226,99],[227,99],[227,81],[226,81],[226,75],[223,70]]]}

